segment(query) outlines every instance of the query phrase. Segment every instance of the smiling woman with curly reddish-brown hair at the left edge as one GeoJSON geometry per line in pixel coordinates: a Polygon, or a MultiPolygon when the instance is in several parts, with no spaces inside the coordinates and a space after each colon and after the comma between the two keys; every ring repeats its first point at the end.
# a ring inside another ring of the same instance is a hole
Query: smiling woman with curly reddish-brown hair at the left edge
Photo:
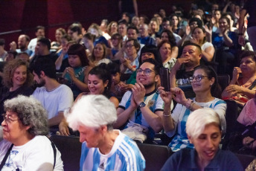
{"type": "MultiPolygon", "coordinates": [[[[4,87],[0,89],[0,114],[4,113],[4,101],[19,94],[30,96],[33,93],[33,75],[28,70],[28,62],[13,59],[4,66],[4,87]]],[[[0,122],[2,122],[0,118],[0,122]]]]}

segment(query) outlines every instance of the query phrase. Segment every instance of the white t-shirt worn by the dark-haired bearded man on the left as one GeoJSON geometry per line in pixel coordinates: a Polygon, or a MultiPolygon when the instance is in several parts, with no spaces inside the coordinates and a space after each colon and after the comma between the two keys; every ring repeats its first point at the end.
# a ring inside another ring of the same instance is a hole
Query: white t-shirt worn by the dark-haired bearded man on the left
{"type": "Polygon", "coordinates": [[[47,110],[48,119],[57,116],[58,112],[64,112],[74,102],[71,88],[64,84],[61,84],[52,91],[47,91],[45,87],[38,87],[33,91],[33,97],[39,100],[47,110]]]}

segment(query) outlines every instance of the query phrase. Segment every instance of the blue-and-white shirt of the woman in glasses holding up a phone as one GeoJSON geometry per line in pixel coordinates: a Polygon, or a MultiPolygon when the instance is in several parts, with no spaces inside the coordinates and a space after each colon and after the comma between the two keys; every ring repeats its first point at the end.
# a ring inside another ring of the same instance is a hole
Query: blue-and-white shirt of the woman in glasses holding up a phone
{"type": "MultiPolygon", "coordinates": [[[[214,109],[214,111],[217,112],[217,114],[220,116],[222,131],[225,133],[225,110],[227,108],[225,101],[215,98],[214,100],[207,103],[198,103],[195,101],[195,98],[193,98],[193,102],[202,108],[214,109]]],[[[172,118],[175,129],[173,129],[171,132],[166,132],[169,137],[175,135],[169,144],[173,152],[176,152],[179,149],[193,148],[193,144],[189,143],[188,141],[187,133],[185,130],[189,114],[191,114],[191,111],[181,104],[177,104],[176,108],[173,110],[172,118]]]]}

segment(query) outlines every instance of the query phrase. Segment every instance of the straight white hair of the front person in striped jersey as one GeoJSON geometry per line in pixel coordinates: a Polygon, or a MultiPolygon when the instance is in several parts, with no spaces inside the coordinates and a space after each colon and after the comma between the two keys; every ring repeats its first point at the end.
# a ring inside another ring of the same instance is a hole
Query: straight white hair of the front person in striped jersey
{"type": "Polygon", "coordinates": [[[103,95],[85,95],[74,103],[71,112],[65,112],[68,125],[77,130],[79,126],[99,128],[108,126],[112,129],[118,119],[115,106],[103,95]]]}

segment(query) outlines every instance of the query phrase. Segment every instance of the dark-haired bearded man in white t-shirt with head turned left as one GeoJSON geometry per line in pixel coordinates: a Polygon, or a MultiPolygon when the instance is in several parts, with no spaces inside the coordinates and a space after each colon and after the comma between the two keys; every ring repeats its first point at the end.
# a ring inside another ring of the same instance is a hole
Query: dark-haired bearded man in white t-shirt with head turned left
{"type": "Polygon", "coordinates": [[[71,88],[57,82],[55,65],[51,59],[37,59],[32,71],[33,80],[38,84],[33,97],[47,110],[50,132],[56,133],[64,117],[63,112],[73,104],[73,93],[71,88]]]}

